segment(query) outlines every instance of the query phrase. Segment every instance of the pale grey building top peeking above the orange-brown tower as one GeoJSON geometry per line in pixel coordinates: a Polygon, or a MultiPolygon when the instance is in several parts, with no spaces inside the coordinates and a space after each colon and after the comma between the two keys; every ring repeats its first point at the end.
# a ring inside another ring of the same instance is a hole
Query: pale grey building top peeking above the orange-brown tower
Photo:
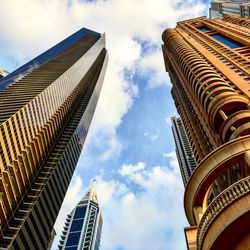
{"type": "Polygon", "coordinates": [[[250,18],[249,0],[214,0],[209,9],[210,18],[222,18],[226,15],[237,15],[243,18],[250,18]]]}

